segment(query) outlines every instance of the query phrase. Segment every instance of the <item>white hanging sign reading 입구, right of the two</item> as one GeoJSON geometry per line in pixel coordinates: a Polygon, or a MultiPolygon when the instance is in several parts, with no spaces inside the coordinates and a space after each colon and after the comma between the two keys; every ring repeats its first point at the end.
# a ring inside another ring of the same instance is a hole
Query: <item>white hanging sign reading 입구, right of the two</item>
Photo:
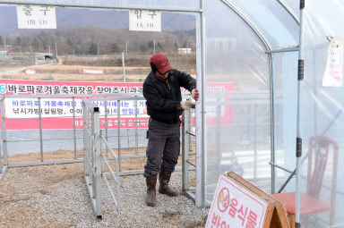
{"type": "Polygon", "coordinates": [[[155,10],[130,10],[129,30],[161,31],[161,12],[155,10]]]}

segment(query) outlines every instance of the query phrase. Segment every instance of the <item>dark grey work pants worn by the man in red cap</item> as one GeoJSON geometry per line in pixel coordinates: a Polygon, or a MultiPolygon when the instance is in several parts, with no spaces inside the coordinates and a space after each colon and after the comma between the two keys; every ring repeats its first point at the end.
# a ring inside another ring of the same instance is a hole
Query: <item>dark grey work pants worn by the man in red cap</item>
{"type": "Polygon", "coordinates": [[[180,150],[180,122],[168,124],[150,118],[147,136],[147,164],[143,175],[150,177],[159,171],[173,172],[180,150]]]}

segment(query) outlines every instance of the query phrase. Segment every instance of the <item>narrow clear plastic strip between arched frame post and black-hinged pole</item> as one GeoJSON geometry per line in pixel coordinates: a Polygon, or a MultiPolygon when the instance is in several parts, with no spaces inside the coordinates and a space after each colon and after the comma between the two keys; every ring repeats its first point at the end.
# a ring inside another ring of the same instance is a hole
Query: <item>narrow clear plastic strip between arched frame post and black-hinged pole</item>
{"type": "MultiPolygon", "coordinates": [[[[288,171],[296,168],[293,142],[297,138],[297,54],[296,51],[273,54],[275,164],[288,171]]],[[[278,168],[275,171],[275,192],[295,190],[295,179],[283,188],[291,173],[278,168]]]]}

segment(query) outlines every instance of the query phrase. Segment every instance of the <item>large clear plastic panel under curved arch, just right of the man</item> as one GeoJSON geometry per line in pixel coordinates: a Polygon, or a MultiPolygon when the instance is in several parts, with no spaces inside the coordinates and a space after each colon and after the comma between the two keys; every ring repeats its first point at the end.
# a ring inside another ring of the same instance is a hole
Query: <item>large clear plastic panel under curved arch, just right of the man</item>
{"type": "Polygon", "coordinates": [[[271,95],[265,46],[220,1],[205,2],[206,204],[234,171],[270,191],[271,95]]]}

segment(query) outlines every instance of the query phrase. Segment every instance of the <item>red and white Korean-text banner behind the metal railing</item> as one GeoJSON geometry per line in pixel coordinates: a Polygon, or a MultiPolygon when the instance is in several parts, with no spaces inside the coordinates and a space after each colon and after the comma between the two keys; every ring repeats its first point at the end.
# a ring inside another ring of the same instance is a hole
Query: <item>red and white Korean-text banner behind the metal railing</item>
{"type": "MultiPolygon", "coordinates": [[[[53,95],[75,96],[107,93],[142,93],[142,82],[75,82],[48,80],[0,80],[0,95],[52,95],[38,98],[11,97],[4,99],[6,129],[39,129],[39,113],[43,129],[73,129],[75,112],[76,129],[82,129],[82,97],[53,97],[53,95]],[[40,107],[40,109],[39,109],[40,107]]],[[[145,100],[93,101],[99,106],[101,127],[105,127],[107,112],[108,128],[117,128],[117,111],[120,107],[121,128],[147,128],[148,119],[145,100]],[[107,108],[107,109],[105,109],[107,108]],[[137,113],[137,120],[135,119],[137,113]]]]}

